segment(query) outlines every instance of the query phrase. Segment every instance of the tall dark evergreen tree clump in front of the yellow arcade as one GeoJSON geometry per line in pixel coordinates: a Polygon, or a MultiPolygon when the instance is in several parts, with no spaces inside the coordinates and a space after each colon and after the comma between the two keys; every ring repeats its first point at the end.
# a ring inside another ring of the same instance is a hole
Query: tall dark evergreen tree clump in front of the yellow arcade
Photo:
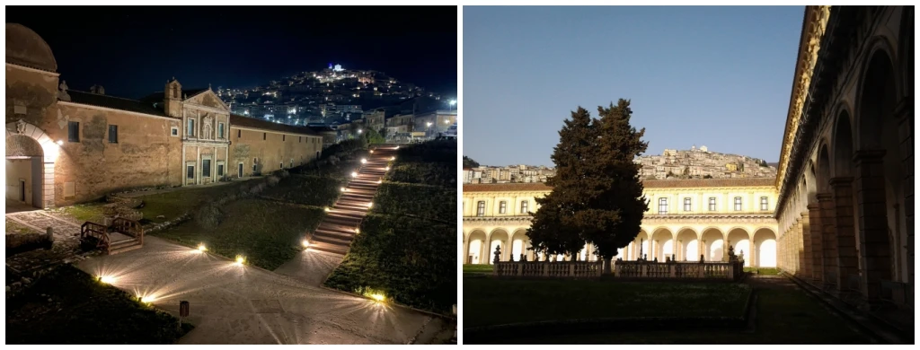
{"type": "Polygon", "coordinates": [[[556,175],[553,190],[538,198],[527,235],[535,250],[548,254],[577,254],[593,243],[609,272],[616,250],[636,238],[648,203],[639,181],[640,165],[633,160],[648,147],[645,130],[629,124],[629,101],[598,107],[600,119],[591,119],[579,107],[559,131],[553,152],[556,175]]]}

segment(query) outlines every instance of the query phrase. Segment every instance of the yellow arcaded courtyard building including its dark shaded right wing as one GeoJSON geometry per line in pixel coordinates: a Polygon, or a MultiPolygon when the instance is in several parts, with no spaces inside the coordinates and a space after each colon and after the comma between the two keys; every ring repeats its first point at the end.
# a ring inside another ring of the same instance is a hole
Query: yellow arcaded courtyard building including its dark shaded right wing
{"type": "MultiPolygon", "coordinates": [[[[747,265],[912,309],[914,6],[807,6],[791,90],[776,178],[646,181],[650,210],[619,257],[713,260],[733,245],[747,265]]],[[[517,260],[549,190],[464,186],[463,260],[486,264],[496,245],[517,260]]]]}

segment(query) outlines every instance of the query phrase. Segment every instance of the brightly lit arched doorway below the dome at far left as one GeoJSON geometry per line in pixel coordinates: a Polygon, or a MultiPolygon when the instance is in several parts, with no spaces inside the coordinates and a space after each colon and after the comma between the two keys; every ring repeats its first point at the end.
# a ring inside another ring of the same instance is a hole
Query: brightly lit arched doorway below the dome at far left
{"type": "Polygon", "coordinates": [[[22,120],[7,123],[7,203],[41,209],[51,207],[57,153],[58,145],[44,131],[22,120]]]}

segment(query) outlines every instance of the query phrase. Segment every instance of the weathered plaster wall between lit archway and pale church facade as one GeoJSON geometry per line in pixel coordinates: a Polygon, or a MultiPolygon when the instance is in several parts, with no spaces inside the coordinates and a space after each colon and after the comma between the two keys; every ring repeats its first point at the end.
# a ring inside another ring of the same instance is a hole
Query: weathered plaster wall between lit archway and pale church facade
{"type": "Polygon", "coordinates": [[[178,120],[61,103],[41,125],[63,141],[54,168],[56,205],[105,196],[109,192],[146,186],[181,184],[181,140],[169,136],[178,120]],[[54,122],[57,119],[61,123],[54,122]],[[70,142],[67,122],[80,123],[80,141],[70,142]],[[118,143],[109,142],[109,125],[118,126],[118,143]],[[73,183],[75,193],[64,193],[73,183]]]}

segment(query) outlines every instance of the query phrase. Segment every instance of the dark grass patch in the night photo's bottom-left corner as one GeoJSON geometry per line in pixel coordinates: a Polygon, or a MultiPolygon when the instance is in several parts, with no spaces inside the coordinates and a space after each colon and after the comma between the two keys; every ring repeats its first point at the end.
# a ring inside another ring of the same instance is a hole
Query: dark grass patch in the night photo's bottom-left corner
{"type": "Polygon", "coordinates": [[[6,344],[173,344],[177,323],[70,265],[6,300],[6,344]]]}

